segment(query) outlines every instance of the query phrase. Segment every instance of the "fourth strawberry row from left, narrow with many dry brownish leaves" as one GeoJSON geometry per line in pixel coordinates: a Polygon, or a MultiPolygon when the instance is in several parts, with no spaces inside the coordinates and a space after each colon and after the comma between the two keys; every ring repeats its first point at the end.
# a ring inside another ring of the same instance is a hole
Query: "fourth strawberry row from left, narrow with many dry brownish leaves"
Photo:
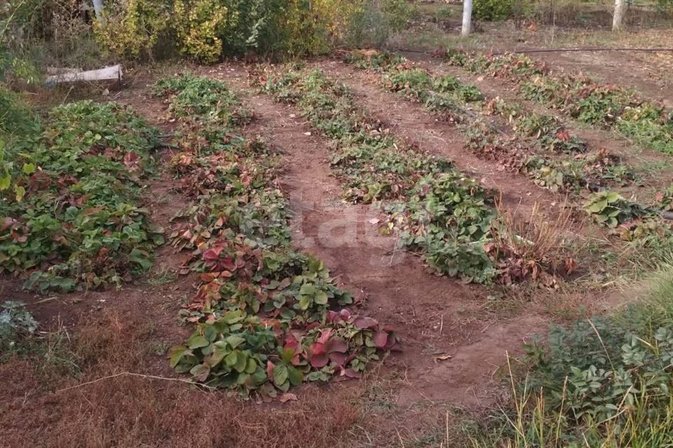
{"type": "Polygon", "coordinates": [[[619,158],[602,149],[587,152],[587,144],[556,118],[501,98],[485,99],[476,87],[464,85],[454,76],[435,76],[387,52],[374,56],[353,52],[347,62],[382,73],[387,90],[463,123],[467,147],[478,156],[498,160],[552,191],[598,190],[634,179],[632,170],[621,165],[619,158]],[[475,120],[465,123],[466,117],[475,115],[475,120]],[[499,132],[501,125],[510,127],[513,135],[499,132]],[[559,158],[559,153],[571,157],[559,158]]]}

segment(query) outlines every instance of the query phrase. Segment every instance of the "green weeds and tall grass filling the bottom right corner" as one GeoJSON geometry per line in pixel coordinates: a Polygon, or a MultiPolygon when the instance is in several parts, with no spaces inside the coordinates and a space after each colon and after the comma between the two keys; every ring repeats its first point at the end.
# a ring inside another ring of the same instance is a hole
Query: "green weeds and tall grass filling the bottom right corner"
{"type": "Polygon", "coordinates": [[[555,326],[512,374],[513,401],[475,447],[665,447],[673,443],[670,269],[642,302],[555,326]],[[499,446],[499,445],[498,445],[499,446]]]}

